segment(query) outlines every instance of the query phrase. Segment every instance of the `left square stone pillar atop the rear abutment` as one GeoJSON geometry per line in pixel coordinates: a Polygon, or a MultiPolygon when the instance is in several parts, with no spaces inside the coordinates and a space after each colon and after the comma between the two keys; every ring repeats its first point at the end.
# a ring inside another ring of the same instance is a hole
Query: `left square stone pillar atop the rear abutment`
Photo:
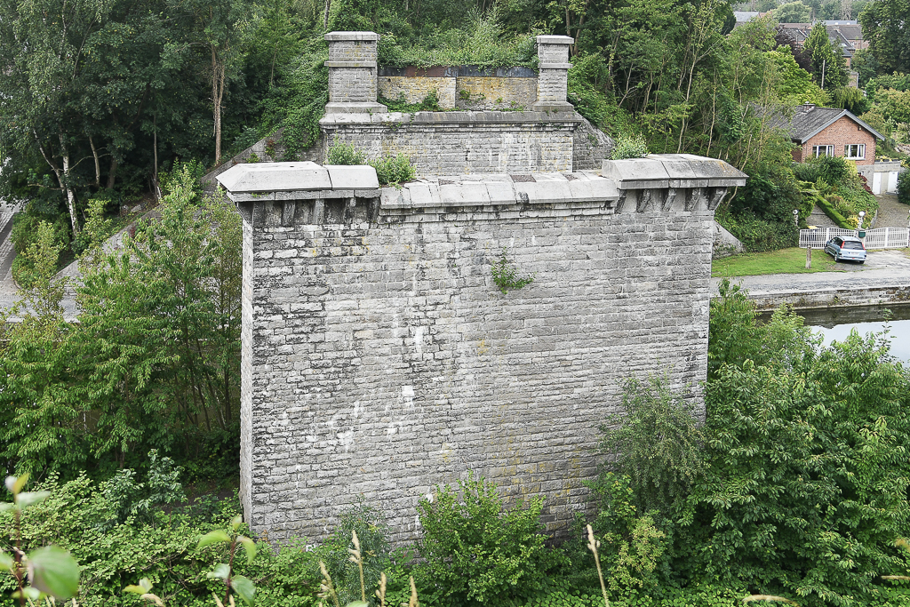
{"type": "Polygon", "coordinates": [[[329,32],[329,103],[326,114],[386,112],[376,102],[379,34],[329,32]]]}

